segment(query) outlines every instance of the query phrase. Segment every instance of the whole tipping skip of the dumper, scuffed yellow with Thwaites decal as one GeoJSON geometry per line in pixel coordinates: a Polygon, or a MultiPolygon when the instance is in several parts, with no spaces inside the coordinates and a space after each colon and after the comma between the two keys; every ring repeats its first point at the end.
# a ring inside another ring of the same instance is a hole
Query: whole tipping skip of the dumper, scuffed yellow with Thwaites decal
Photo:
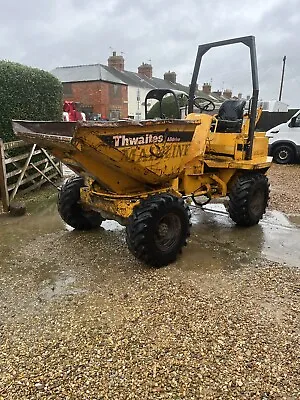
{"type": "Polygon", "coordinates": [[[47,149],[76,173],[117,193],[141,190],[141,185],[167,185],[178,177],[196,125],[191,120],[13,121],[16,136],[47,149]]]}

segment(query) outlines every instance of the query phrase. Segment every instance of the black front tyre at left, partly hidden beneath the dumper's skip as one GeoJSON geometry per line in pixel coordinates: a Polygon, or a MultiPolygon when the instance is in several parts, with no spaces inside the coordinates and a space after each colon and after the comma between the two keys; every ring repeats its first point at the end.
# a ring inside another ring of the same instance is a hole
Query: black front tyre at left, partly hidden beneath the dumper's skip
{"type": "Polygon", "coordinates": [[[58,195],[57,208],[61,218],[78,230],[98,228],[104,219],[95,211],[83,209],[80,205],[80,188],[84,181],[80,176],[68,179],[58,195]]]}

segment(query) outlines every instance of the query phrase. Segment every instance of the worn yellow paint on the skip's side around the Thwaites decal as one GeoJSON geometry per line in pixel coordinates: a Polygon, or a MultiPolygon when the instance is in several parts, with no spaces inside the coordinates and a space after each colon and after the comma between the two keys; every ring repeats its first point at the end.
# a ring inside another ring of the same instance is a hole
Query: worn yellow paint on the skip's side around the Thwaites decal
{"type": "MultiPolygon", "coordinates": [[[[194,122],[178,121],[171,125],[173,132],[189,132],[191,136],[197,125],[194,122]]],[[[72,140],[79,154],[73,155],[82,163],[82,157],[89,163],[89,171],[97,177],[99,183],[110,191],[126,194],[141,191],[146,184],[169,186],[183,170],[191,142],[110,146],[103,142],[102,135],[110,138],[122,135],[152,135],[164,137],[170,124],[162,122],[149,126],[132,126],[131,129],[103,129],[95,127],[81,128],[72,140]],[[155,133],[155,134],[154,134],[155,133]]]]}

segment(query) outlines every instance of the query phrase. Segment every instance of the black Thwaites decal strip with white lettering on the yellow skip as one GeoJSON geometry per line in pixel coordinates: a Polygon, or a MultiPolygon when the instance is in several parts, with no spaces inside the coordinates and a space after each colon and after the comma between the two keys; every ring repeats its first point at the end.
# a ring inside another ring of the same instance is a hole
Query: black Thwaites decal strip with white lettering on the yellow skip
{"type": "Polygon", "coordinates": [[[140,146],[146,144],[159,144],[163,142],[190,142],[193,137],[193,132],[174,132],[174,133],[147,133],[143,135],[101,135],[101,139],[110,146],[113,147],[130,147],[140,146]]]}

